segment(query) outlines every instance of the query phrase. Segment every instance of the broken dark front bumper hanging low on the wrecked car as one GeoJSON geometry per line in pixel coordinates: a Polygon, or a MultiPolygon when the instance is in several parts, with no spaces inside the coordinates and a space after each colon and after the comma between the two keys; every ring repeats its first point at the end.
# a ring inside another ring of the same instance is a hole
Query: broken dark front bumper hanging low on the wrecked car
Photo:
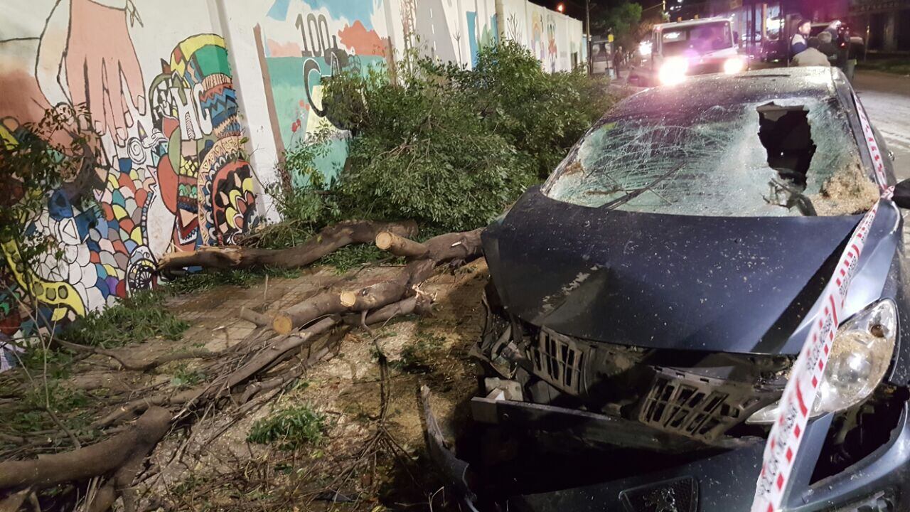
{"type": "MultiPolygon", "coordinates": [[[[422,399],[430,456],[466,510],[487,510],[489,505],[491,510],[529,512],[695,512],[749,510],[752,505],[764,449],[761,438],[741,439],[735,446],[710,452],[692,462],[672,467],[668,465],[634,476],[540,494],[484,497],[484,506],[481,507],[477,494],[469,484],[473,477],[469,464],[455,456],[443,441],[439,424],[430,410],[429,389],[424,388],[422,399]]],[[[622,432],[627,426],[602,415],[495,398],[475,398],[472,409],[475,419],[481,422],[501,425],[517,421],[525,428],[535,430],[581,429],[586,435],[612,437],[617,445],[622,445],[622,432]]],[[[910,476],[910,423],[907,417],[907,404],[904,404],[899,421],[885,445],[843,472],[810,485],[815,460],[822,450],[832,415],[816,418],[807,427],[804,449],[800,450],[794,465],[794,485],[785,498],[785,510],[910,510],[910,493],[904,490],[910,476]]],[[[662,434],[652,434],[642,435],[639,432],[634,442],[643,449],[648,449],[648,445],[658,448],[662,434]]],[[[627,440],[632,442],[632,437],[627,440]]],[[[662,455],[655,451],[653,456],[662,455]]],[[[626,462],[612,458],[603,460],[605,465],[626,462]]],[[[548,461],[541,460],[541,467],[547,464],[548,461]]]]}

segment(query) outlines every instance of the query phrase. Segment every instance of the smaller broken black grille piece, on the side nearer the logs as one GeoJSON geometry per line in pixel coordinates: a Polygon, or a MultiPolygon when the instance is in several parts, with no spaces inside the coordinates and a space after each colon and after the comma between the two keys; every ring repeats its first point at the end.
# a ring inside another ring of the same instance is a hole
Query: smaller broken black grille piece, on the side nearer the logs
{"type": "Polygon", "coordinates": [[[585,353],[571,338],[541,329],[531,360],[537,376],[564,392],[579,393],[585,353]]]}

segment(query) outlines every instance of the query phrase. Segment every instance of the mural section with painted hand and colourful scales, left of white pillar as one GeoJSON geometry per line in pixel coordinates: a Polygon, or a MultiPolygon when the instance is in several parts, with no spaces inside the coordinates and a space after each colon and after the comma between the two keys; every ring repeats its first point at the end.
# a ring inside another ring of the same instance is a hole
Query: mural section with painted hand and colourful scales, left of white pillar
{"type": "Polygon", "coordinates": [[[256,221],[225,41],[205,3],[187,4],[33,0],[0,20],[2,143],[15,148],[48,108],[84,106],[100,145],[86,185],[65,183],[29,222],[61,251],[26,276],[2,245],[5,335],[29,328],[27,283],[43,317],[73,318],[153,286],[161,254],[230,243],[256,221]]]}

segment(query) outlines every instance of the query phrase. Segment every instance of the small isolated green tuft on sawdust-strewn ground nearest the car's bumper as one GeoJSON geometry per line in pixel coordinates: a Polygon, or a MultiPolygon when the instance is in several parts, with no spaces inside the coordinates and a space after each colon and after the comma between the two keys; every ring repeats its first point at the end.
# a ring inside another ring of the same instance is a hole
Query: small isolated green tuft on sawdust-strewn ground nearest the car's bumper
{"type": "Polygon", "coordinates": [[[247,441],[260,445],[278,444],[282,450],[315,445],[326,432],[326,416],[307,404],[278,410],[253,424],[247,441]]]}

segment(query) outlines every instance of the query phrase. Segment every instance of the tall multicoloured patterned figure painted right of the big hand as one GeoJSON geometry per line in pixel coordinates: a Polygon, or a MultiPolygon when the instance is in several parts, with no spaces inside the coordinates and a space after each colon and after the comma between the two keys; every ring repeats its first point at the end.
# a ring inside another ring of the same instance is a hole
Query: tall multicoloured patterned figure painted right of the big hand
{"type": "Polygon", "coordinates": [[[224,39],[181,41],[148,96],[161,136],[153,155],[161,198],[175,216],[174,246],[233,243],[252,220],[256,197],[224,39]]]}

